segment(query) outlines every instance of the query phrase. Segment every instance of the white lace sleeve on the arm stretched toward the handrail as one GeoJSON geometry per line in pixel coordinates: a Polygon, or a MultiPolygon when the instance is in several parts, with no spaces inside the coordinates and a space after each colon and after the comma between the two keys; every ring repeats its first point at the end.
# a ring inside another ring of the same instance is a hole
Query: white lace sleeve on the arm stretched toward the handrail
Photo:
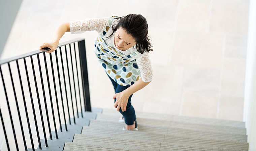
{"type": "Polygon", "coordinates": [[[99,34],[101,34],[106,28],[109,18],[110,17],[93,19],[88,18],[83,20],[70,21],[70,33],[81,34],[86,31],[97,31],[99,34]]]}

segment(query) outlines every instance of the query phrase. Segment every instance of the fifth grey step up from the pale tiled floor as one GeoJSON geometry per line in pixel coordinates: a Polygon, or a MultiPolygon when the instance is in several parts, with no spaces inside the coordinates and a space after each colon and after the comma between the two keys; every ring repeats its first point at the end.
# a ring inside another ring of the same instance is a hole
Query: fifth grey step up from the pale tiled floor
{"type": "MultiPolygon", "coordinates": [[[[175,143],[164,143],[164,142],[152,142],[152,141],[143,141],[143,140],[128,140],[127,138],[122,137],[102,137],[102,136],[93,136],[93,135],[83,135],[76,134],[74,136],[73,143],[79,143],[83,145],[100,145],[100,146],[109,146],[117,145],[123,146],[125,148],[133,148],[134,150],[147,150],[147,151],[160,151],[160,150],[202,150],[202,151],[238,151],[234,149],[223,149],[221,147],[208,147],[207,145],[198,146],[198,145],[185,145],[185,144],[175,144],[175,143]]],[[[239,150],[242,151],[242,150],[239,150]]]]}

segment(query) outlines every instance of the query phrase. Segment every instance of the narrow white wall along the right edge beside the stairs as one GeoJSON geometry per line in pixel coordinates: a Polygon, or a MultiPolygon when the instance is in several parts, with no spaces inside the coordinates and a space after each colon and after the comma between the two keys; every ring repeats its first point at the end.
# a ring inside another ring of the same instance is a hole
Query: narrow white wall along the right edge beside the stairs
{"type": "Polygon", "coordinates": [[[245,79],[244,121],[249,151],[256,150],[256,0],[250,0],[245,79]]]}

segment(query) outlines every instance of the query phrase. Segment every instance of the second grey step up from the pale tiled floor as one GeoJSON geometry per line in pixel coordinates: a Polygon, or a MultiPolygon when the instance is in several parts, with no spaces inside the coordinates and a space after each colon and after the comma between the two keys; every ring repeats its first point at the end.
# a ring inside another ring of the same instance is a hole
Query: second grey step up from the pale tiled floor
{"type": "MultiPolygon", "coordinates": [[[[97,114],[96,120],[107,120],[107,121],[118,121],[120,115],[116,114],[97,114]]],[[[140,118],[136,117],[136,121],[139,124],[143,125],[160,125],[170,128],[179,128],[185,130],[200,130],[211,131],[211,132],[220,132],[220,133],[230,133],[230,134],[243,134],[246,135],[246,128],[240,127],[230,127],[230,126],[220,126],[220,125],[205,125],[205,124],[195,124],[195,123],[184,123],[168,120],[159,120],[159,119],[149,119],[149,118],[140,118]]]]}

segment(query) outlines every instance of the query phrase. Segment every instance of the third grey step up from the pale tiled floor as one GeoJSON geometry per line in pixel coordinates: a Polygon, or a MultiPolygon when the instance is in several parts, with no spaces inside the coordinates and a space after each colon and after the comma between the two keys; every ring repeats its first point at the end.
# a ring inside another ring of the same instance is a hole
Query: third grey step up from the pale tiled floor
{"type": "MultiPolygon", "coordinates": [[[[122,130],[124,123],[106,121],[106,120],[91,120],[89,127],[97,127],[101,129],[114,129],[122,130]]],[[[203,137],[205,139],[216,139],[216,140],[230,140],[230,141],[239,141],[247,142],[247,135],[242,134],[232,134],[232,133],[220,133],[215,131],[201,131],[201,130],[185,130],[180,128],[169,128],[163,126],[152,126],[144,125],[138,123],[138,129],[140,132],[147,132],[153,134],[164,134],[164,135],[179,135],[179,136],[195,136],[203,137]]]]}

